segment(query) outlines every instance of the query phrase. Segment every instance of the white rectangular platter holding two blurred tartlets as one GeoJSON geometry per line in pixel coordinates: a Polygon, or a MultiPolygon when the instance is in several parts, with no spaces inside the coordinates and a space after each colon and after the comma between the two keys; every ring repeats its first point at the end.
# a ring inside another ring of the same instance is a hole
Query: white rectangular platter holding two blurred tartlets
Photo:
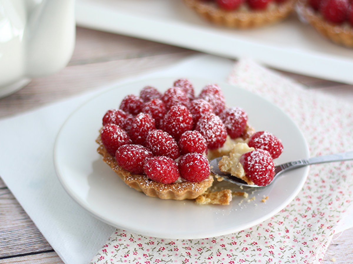
{"type": "Polygon", "coordinates": [[[153,40],[227,58],[250,57],[276,69],[353,84],[353,49],[321,37],[296,14],[252,30],[203,20],[182,0],[76,0],[83,27],[153,40]]]}

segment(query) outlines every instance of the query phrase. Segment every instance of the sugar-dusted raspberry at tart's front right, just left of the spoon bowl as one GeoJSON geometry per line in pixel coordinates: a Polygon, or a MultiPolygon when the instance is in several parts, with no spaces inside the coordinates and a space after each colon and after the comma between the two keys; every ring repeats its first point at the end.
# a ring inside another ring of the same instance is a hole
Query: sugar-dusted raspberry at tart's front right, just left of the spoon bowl
{"type": "Polygon", "coordinates": [[[179,161],[179,172],[189,182],[202,182],[210,176],[210,164],[202,154],[188,153],[179,161]]]}

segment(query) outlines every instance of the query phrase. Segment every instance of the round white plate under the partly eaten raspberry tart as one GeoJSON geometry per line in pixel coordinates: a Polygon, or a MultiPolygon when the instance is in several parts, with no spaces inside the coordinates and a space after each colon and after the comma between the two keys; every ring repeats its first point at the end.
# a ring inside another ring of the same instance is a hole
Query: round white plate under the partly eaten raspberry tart
{"type": "MultiPolygon", "coordinates": [[[[114,87],[80,106],[67,119],[56,139],[54,162],[67,193],[98,219],[138,234],[173,239],[214,237],[240,231],[271,217],[285,207],[303,187],[308,168],[290,171],[250,197],[236,197],[229,206],[199,206],[193,201],[151,198],[126,186],[97,154],[95,139],[104,113],[118,108],[127,94],[151,85],[161,91],[177,78],[142,80],[114,87]],[[269,196],[266,203],[260,200],[269,196]],[[241,200],[243,200],[241,202],[241,200]],[[241,203],[240,203],[241,202],[241,203]]],[[[198,93],[207,80],[192,79],[198,93]]],[[[278,136],[285,151],[277,163],[309,157],[303,135],[294,122],[267,100],[246,90],[220,84],[228,106],[240,106],[256,130],[278,136]]]]}

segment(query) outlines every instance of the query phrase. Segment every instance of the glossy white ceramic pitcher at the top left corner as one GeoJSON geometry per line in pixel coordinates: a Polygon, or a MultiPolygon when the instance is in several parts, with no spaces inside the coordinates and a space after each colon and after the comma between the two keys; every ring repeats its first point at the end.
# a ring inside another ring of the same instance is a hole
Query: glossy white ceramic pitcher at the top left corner
{"type": "Polygon", "coordinates": [[[0,0],[0,98],[71,58],[74,0],[0,0]]]}

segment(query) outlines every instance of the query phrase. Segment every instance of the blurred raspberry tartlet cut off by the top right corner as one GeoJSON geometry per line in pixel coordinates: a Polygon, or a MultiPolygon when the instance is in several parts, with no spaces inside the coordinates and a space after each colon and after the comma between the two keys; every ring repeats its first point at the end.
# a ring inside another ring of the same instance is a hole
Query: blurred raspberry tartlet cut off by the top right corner
{"type": "Polygon", "coordinates": [[[322,36],[353,48],[353,2],[349,0],[300,0],[297,11],[322,36]]]}

